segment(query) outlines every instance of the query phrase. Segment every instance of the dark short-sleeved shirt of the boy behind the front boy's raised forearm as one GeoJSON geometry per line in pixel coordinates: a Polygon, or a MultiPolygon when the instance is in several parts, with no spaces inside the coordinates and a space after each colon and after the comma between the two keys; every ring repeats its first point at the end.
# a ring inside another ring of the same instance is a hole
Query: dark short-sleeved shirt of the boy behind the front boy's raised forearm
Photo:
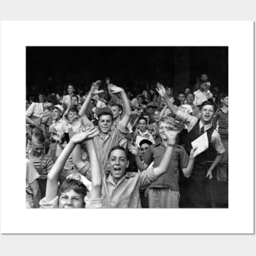
{"type": "MultiPolygon", "coordinates": [[[[161,163],[166,147],[162,141],[151,145],[143,155],[144,163],[150,165],[154,161],[153,167],[158,167],[161,163]]],[[[156,182],[153,182],[150,188],[169,188],[173,191],[179,191],[179,169],[186,168],[189,156],[183,146],[176,145],[173,148],[171,162],[168,165],[167,172],[161,175],[156,182]]]]}

